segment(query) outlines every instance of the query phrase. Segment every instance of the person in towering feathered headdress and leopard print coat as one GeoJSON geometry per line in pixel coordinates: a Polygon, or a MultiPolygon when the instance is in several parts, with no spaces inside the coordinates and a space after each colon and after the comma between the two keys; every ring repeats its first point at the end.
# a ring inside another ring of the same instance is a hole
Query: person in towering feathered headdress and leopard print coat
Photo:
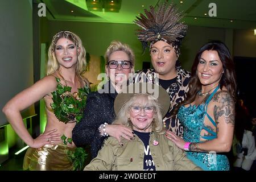
{"type": "Polygon", "coordinates": [[[137,30],[143,51],[149,47],[151,63],[154,69],[144,69],[137,72],[134,82],[152,82],[167,90],[171,105],[164,117],[166,129],[181,136],[183,127],[176,116],[171,117],[175,106],[185,99],[188,92],[190,73],[181,68],[179,63],[181,41],[186,35],[187,25],[180,22],[183,14],[175,5],[168,1],[155,9],[144,10],[146,16],[140,14],[134,21],[142,30],[137,30]]]}

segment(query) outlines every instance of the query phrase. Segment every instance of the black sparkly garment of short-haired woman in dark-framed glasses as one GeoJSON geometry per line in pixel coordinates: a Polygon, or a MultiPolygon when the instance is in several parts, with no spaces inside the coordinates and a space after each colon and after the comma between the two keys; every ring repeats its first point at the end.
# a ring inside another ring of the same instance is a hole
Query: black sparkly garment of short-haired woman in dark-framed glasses
{"type": "Polygon", "coordinates": [[[98,127],[105,122],[112,123],[115,118],[115,97],[117,92],[110,81],[102,87],[102,90],[91,92],[86,100],[83,117],[72,131],[72,139],[77,147],[90,145],[92,159],[97,156],[106,138],[101,137],[98,127]]]}

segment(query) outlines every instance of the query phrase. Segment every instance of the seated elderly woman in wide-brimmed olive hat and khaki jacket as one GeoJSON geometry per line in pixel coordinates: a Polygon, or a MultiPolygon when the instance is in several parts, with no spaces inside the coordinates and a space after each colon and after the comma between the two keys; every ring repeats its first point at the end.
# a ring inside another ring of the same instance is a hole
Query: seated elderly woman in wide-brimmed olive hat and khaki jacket
{"type": "Polygon", "coordinates": [[[114,137],[84,170],[200,170],[165,136],[162,117],[170,106],[166,90],[158,85],[136,83],[115,98],[115,125],[130,127],[134,139],[114,137]],[[143,91],[144,90],[144,91],[143,91]]]}

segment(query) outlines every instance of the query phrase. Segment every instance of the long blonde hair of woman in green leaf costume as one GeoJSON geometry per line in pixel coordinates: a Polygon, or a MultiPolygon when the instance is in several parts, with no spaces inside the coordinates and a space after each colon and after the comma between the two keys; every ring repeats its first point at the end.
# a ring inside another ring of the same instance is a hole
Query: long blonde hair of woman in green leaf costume
{"type": "Polygon", "coordinates": [[[57,32],[55,36],[52,38],[52,43],[49,46],[48,50],[48,63],[47,63],[47,75],[51,75],[52,73],[56,72],[59,69],[59,63],[56,59],[55,55],[55,48],[56,43],[60,38],[66,38],[68,40],[71,40],[73,43],[75,43],[75,46],[77,48],[77,53],[80,49],[80,53],[77,56],[77,63],[76,63],[76,74],[81,77],[82,73],[85,72],[86,67],[86,60],[85,60],[85,48],[82,46],[82,41],[73,32],[70,31],[60,31],[57,32]]]}

